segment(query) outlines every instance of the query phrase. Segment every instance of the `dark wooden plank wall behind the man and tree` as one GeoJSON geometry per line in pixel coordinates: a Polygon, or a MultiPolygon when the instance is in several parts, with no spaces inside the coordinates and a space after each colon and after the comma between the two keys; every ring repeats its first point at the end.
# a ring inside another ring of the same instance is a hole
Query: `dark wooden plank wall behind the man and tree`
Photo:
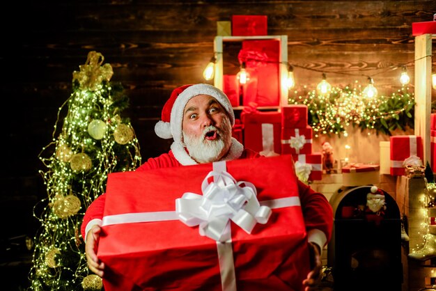
{"type": "Polygon", "coordinates": [[[38,154],[51,141],[57,111],[70,96],[72,72],[89,51],[101,52],[114,68],[112,80],[125,86],[126,113],[145,161],[169,149],[169,141],[155,136],[154,125],[173,88],[204,82],[217,21],[267,15],[268,34],[288,36],[289,61],[300,85],[316,86],[321,73],[313,70],[328,72],[336,86],[355,79],[365,84],[363,75],[373,74],[379,91],[389,93],[399,86],[399,70],[391,68],[407,64],[413,84],[411,25],[431,21],[436,13],[434,0],[18,0],[8,6],[0,19],[6,121],[0,218],[24,222],[3,223],[0,238],[35,231],[32,207],[47,195],[38,154]]]}

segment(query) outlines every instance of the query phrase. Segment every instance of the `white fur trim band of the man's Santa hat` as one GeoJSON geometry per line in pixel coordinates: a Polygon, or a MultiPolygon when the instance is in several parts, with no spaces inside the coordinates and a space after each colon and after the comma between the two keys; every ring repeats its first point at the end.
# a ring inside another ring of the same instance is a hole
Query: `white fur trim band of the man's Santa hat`
{"type": "Polygon", "coordinates": [[[192,97],[198,95],[210,95],[214,97],[219,104],[227,111],[228,117],[230,118],[231,125],[235,125],[235,113],[233,113],[233,107],[231,105],[230,100],[223,91],[219,90],[219,88],[209,85],[209,84],[195,84],[189,86],[185,89],[180,95],[178,95],[176,101],[173,104],[173,108],[171,109],[171,134],[173,135],[174,141],[182,141],[182,120],[183,120],[183,111],[185,110],[185,106],[192,97]]]}

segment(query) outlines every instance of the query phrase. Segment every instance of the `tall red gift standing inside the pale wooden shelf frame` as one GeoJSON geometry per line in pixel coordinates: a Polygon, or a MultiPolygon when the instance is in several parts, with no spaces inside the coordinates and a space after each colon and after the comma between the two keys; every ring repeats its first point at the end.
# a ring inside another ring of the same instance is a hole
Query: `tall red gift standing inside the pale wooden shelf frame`
{"type": "Polygon", "coordinates": [[[238,54],[249,81],[244,85],[243,105],[279,106],[279,40],[244,40],[238,54]]]}

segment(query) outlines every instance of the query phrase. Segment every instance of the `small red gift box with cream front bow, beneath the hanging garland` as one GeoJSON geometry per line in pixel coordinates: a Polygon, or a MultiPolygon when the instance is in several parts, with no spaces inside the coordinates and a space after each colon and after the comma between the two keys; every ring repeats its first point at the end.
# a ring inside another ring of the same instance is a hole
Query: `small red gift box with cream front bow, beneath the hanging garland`
{"type": "Polygon", "coordinates": [[[282,154],[310,154],[312,152],[312,127],[302,128],[281,127],[282,154]]]}

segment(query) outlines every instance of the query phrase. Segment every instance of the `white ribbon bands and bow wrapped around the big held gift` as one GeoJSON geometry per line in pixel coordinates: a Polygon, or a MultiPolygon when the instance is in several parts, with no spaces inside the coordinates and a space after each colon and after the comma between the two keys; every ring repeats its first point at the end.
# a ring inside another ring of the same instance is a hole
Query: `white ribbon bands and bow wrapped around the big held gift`
{"type": "Polygon", "coordinates": [[[226,172],[225,161],[212,163],[212,171],[203,180],[201,188],[203,194],[207,193],[208,197],[187,192],[182,198],[176,199],[176,211],[108,215],[103,217],[103,226],[178,219],[188,226],[198,225],[201,235],[219,238],[215,241],[221,273],[221,287],[223,291],[236,291],[230,221],[238,224],[247,233],[251,233],[257,222],[267,222],[271,209],[300,206],[299,196],[259,202],[256,198],[257,191],[254,184],[244,181],[236,182],[226,172]],[[214,177],[214,182],[208,182],[210,177],[214,177]],[[240,187],[242,184],[245,184],[245,187],[240,187]],[[242,203],[244,200],[246,202],[242,203]],[[193,205],[196,205],[197,209],[193,205]],[[203,218],[208,220],[203,221],[203,218]]]}

